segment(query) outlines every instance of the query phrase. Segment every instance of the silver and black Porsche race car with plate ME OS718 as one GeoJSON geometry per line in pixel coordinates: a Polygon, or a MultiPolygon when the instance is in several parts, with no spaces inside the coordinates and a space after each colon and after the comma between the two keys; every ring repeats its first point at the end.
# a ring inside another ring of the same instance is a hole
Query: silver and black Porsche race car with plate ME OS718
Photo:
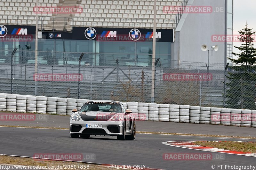
{"type": "Polygon", "coordinates": [[[72,110],[70,116],[70,137],[89,138],[90,135],[117,136],[118,140],[134,140],[136,136],[135,117],[131,110],[119,101],[92,100],[72,110]]]}

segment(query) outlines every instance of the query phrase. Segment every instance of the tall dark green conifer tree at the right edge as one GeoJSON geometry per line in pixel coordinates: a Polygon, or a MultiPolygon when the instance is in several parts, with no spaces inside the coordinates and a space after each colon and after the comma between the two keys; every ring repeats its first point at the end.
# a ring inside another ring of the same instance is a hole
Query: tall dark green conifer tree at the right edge
{"type": "Polygon", "coordinates": [[[244,29],[238,31],[241,47],[236,47],[240,53],[232,53],[237,59],[229,58],[236,65],[229,68],[233,71],[227,76],[229,82],[227,86],[226,101],[229,108],[256,109],[256,48],[253,47],[253,38],[256,32],[248,28],[246,23],[244,29]]]}

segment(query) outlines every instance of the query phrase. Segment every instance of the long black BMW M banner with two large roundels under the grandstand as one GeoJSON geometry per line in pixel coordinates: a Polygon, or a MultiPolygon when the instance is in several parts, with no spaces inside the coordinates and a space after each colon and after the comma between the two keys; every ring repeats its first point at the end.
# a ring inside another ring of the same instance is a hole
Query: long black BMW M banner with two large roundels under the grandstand
{"type": "MultiPolygon", "coordinates": [[[[156,41],[174,42],[173,29],[156,29],[156,41]]],[[[73,27],[72,32],[43,32],[46,39],[96,41],[153,41],[152,29],[73,27]]]]}

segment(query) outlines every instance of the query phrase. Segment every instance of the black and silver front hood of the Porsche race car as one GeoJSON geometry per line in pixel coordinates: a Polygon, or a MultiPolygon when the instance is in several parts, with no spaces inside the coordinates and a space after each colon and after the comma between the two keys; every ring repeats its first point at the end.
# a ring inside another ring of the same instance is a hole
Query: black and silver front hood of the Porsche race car
{"type": "Polygon", "coordinates": [[[78,112],[84,121],[108,121],[116,112],[78,112]]]}

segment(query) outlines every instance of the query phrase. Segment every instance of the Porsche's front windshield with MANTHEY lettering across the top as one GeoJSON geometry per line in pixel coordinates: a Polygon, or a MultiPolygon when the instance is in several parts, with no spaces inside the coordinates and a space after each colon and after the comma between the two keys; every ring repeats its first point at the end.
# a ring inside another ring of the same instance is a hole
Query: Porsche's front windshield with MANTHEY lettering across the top
{"type": "Polygon", "coordinates": [[[121,113],[121,106],[110,102],[90,102],[85,103],[79,112],[116,112],[121,113]]]}

